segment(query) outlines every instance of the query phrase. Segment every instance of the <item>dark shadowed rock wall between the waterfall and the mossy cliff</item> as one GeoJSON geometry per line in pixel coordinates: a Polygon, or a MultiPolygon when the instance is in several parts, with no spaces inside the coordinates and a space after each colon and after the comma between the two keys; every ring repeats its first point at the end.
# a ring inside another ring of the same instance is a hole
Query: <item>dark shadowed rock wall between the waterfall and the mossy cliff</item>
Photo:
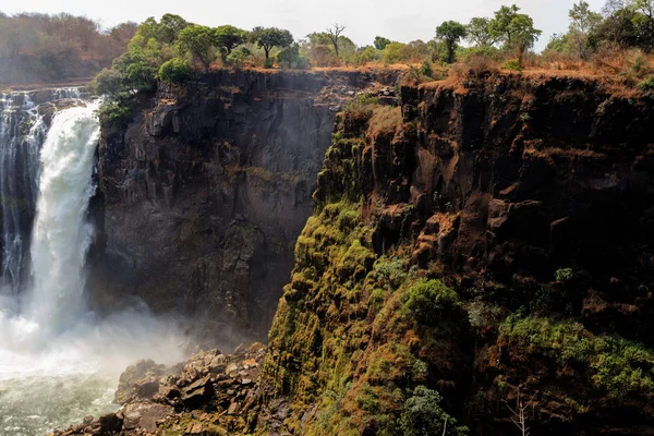
{"type": "Polygon", "coordinates": [[[265,337],[335,113],[392,78],[218,71],[161,84],[101,138],[96,298],[191,316],[225,347],[265,337]]]}

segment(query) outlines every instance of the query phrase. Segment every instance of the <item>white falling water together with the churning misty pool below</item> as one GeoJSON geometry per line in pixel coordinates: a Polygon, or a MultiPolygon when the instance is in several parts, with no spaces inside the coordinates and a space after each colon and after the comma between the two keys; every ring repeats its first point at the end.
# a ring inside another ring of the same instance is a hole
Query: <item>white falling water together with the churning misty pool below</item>
{"type": "Polygon", "coordinates": [[[27,175],[0,174],[7,175],[0,185],[4,230],[0,436],[35,436],[88,414],[97,417],[114,411],[113,392],[128,365],[145,358],[177,363],[183,360],[184,342],[171,323],[155,319],[147,308],[97,319],[87,305],[84,263],[93,228],[86,215],[96,189],[92,173],[99,136],[94,116],[97,102],[78,100],[76,107],[58,112],[40,147],[38,129],[41,136],[46,131],[43,119],[31,112],[36,118],[27,135],[19,134],[17,122],[11,121],[15,113],[5,117],[5,108],[0,119],[4,134],[0,135],[0,153],[7,159],[0,159],[4,165],[0,171],[12,171],[15,153],[29,152],[31,142],[40,159],[21,169],[27,175]],[[9,128],[3,122],[8,120],[13,123],[9,128]],[[21,178],[26,184],[16,182],[21,178]],[[29,214],[21,216],[14,199],[28,196],[31,183],[38,186],[34,187],[38,196],[27,252],[22,237],[29,234],[23,228],[29,214]],[[9,246],[16,235],[21,246],[9,246]],[[23,274],[11,269],[25,268],[17,256],[26,252],[32,264],[25,283],[23,274]]]}

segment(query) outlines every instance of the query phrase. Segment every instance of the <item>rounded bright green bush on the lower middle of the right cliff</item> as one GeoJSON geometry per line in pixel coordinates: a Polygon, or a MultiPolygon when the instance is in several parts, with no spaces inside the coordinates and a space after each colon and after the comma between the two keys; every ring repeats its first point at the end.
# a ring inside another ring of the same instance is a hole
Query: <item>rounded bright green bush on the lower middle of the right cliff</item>
{"type": "Polygon", "coordinates": [[[444,312],[459,305],[457,293],[440,280],[421,279],[416,281],[404,295],[402,306],[419,323],[435,325],[444,312]]]}

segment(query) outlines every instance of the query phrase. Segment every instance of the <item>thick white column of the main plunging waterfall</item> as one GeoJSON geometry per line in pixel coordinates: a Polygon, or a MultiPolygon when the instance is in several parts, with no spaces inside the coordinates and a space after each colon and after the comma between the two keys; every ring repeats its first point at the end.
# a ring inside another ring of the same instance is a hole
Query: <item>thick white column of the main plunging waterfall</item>
{"type": "Polygon", "coordinates": [[[58,331],[84,310],[84,263],[93,237],[85,222],[99,124],[97,105],[59,112],[40,152],[32,235],[32,318],[58,331]]]}

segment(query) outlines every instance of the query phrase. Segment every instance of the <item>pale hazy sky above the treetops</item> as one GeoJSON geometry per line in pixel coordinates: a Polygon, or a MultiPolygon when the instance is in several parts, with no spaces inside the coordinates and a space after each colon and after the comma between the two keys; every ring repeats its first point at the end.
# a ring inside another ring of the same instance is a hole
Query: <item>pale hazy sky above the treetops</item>
{"type": "MultiPolygon", "coordinates": [[[[604,4],[604,0],[588,1],[595,11],[604,4]]],[[[376,35],[402,43],[426,41],[443,21],[467,23],[513,2],[543,31],[536,45],[541,49],[553,33],[566,31],[568,10],[576,0],[0,0],[0,11],[70,12],[100,20],[105,26],[148,16],[158,20],[170,12],[209,26],[284,27],[296,39],[324,31],[330,23],[342,23],[348,26],[346,35],[361,46],[372,44],[376,35]]]]}

